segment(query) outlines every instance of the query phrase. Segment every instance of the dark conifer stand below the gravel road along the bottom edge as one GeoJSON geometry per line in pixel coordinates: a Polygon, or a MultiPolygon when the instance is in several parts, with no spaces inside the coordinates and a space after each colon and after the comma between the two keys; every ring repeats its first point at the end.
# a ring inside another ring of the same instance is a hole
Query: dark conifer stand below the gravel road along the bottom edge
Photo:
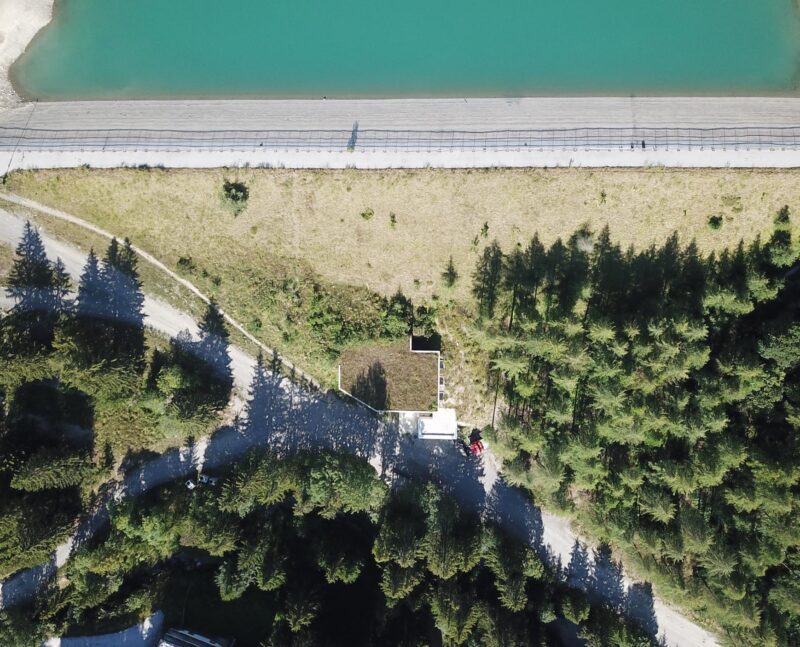
{"type": "Polygon", "coordinates": [[[560,645],[558,617],[597,647],[654,644],[438,486],[390,490],[330,452],[254,452],[219,490],[177,484],[114,505],[61,578],[6,614],[4,645],[155,609],[180,626],[186,605],[195,629],[244,645],[560,645]]]}

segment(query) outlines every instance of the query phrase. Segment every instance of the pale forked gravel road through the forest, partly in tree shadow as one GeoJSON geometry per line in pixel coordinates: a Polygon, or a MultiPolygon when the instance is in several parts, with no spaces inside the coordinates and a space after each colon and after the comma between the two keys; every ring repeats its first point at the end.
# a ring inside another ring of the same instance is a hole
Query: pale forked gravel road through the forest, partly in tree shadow
{"type": "MultiPolygon", "coordinates": [[[[38,208],[32,206],[35,203],[26,202],[25,206],[38,208]]],[[[46,207],[40,210],[52,211],[46,207]]],[[[23,226],[22,218],[0,209],[0,244],[15,246],[23,226]]],[[[44,231],[41,234],[50,259],[60,257],[77,282],[86,260],[84,252],[44,231]]],[[[0,292],[0,309],[10,305],[0,292]]],[[[197,331],[196,323],[188,314],[160,299],[146,296],[144,310],[146,325],[158,333],[173,336],[184,329],[193,334],[197,331]]],[[[255,360],[241,349],[232,347],[230,350],[236,385],[245,393],[255,360]]],[[[230,465],[254,447],[269,446],[287,452],[326,448],[361,456],[383,476],[402,474],[439,483],[466,509],[483,512],[507,531],[529,541],[554,566],[570,562],[577,542],[588,543],[575,534],[568,520],[539,510],[528,496],[497,478],[497,471],[491,465],[465,459],[450,442],[417,441],[401,436],[396,424],[380,420],[334,393],[311,392],[285,378],[276,378],[273,386],[269,429],[254,433],[242,426],[223,427],[192,447],[168,451],[133,469],[125,475],[114,496],[138,496],[154,487],[196,475],[201,468],[213,471],[230,465]]],[[[496,465],[491,455],[485,460],[496,465]]],[[[65,563],[74,546],[84,543],[107,518],[105,505],[99,506],[81,520],[74,537],[59,547],[48,564],[0,582],[0,609],[33,599],[56,569],[65,563]]],[[[718,644],[709,632],[661,600],[654,599],[648,586],[624,577],[613,563],[597,558],[591,551],[585,558],[586,567],[581,572],[566,570],[565,577],[570,585],[612,603],[653,635],[663,636],[670,647],[718,644]],[[609,580],[615,580],[615,586],[596,588],[597,581],[609,580]]]]}

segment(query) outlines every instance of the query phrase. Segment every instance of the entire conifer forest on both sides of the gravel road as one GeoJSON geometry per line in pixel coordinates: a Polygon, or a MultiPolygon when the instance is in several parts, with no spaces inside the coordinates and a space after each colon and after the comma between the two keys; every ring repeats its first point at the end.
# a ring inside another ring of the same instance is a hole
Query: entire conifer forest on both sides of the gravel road
{"type": "MultiPolygon", "coordinates": [[[[587,228],[483,250],[470,336],[490,447],[507,483],[604,542],[592,577],[609,603],[573,586],[585,554],[561,568],[509,532],[494,491],[468,510],[440,483],[384,480],[331,449],[262,448],[218,485],[114,496],[226,424],[225,322],[212,302],[197,335],[161,339],[130,243],[91,253],[73,284],[28,226],[0,320],[0,578],[99,521],[38,597],[0,612],[0,644],[163,610],[244,645],[559,645],[564,631],[652,645],[624,619],[608,546],[723,640],[797,644],[799,256],[788,209],[768,238],[711,255],[677,237],[623,250],[587,228]]],[[[274,423],[282,379],[259,360],[236,434],[274,423]]]]}

